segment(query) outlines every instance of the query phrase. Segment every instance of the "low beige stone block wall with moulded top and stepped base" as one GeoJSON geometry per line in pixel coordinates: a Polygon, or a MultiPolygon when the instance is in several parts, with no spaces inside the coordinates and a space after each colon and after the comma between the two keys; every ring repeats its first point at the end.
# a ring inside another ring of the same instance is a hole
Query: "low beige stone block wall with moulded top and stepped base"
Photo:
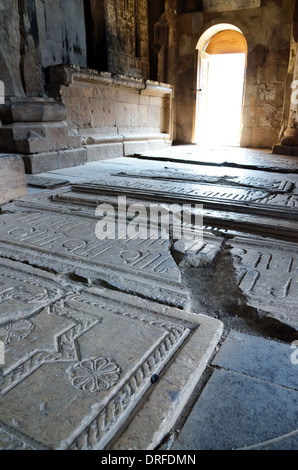
{"type": "Polygon", "coordinates": [[[162,148],[172,139],[172,87],[78,67],[48,70],[48,92],[67,110],[87,161],[162,148]]]}

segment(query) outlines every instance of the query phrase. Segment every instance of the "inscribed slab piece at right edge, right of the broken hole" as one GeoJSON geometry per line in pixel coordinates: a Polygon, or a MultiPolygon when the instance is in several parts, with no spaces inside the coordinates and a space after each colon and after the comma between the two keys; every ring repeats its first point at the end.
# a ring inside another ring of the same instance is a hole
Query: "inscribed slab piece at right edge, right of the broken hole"
{"type": "Polygon", "coordinates": [[[239,237],[231,246],[238,287],[248,305],[298,330],[297,244],[239,237]]]}

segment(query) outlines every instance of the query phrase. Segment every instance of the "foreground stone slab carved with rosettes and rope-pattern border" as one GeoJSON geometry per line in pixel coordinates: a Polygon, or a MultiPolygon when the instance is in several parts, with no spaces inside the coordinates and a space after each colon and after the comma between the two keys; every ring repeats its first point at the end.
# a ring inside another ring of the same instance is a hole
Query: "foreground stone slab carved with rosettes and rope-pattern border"
{"type": "Polygon", "coordinates": [[[99,288],[26,322],[5,340],[2,449],[154,449],[223,330],[213,318],[99,288]]]}

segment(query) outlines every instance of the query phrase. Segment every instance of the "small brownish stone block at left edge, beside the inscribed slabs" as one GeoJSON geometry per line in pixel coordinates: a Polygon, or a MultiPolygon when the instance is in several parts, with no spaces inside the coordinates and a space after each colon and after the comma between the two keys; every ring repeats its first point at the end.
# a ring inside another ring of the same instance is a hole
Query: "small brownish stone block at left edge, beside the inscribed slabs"
{"type": "Polygon", "coordinates": [[[0,204],[25,194],[27,186],[21,157],[0,155],[0,204]]]}

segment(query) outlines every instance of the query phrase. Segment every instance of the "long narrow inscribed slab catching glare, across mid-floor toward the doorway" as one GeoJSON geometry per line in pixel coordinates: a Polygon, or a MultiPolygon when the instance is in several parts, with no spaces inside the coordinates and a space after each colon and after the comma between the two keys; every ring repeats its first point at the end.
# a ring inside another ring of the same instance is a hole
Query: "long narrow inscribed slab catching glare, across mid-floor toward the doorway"
{"type": "Polygon", "coordinates": [[[298,194],[271,192],[265,189],[200,185],[195,183],[154,181],[107,177],[100,184],[73,185],[72,189],[79,192],[98,194],[122,194],[144,199],[159,200],[171,203],[204,204],[206,208],[217,208],[258,214],[270,214],[283,218],[293,218],[298,215],[298,194]],[[286,210],[285,210],[286,209],[286,210]]]}

